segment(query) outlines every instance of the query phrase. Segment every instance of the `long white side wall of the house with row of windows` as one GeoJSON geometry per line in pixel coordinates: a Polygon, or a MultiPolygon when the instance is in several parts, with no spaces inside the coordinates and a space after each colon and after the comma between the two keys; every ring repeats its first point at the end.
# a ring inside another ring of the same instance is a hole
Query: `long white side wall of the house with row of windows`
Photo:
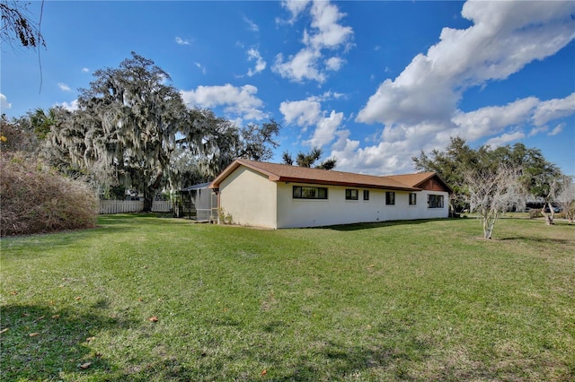
{"type": "MultiPolygon", "coordinates": [[[[299,183],[278,183],[277,228],[317,227],[367,221],[394,221],[447,218],[448,194],[439,191],[419,191],[417,204],[409,205],[409,192],[394,191],[395,204],[385,204],[385,190],[355,187],[328,188],[328,199],[294,199],[293,186],[316,186],[299,183]],[[358,200],[346,200],[346,188],[358,189],[358,200]],[[369,190],[369,200],[363,200],[363,190],[369,190]],[[443,195],[443,208],[428,208],[428,195],[443,195]]],[[[317,185],[317,187],[326,187],[317,185]]]]}

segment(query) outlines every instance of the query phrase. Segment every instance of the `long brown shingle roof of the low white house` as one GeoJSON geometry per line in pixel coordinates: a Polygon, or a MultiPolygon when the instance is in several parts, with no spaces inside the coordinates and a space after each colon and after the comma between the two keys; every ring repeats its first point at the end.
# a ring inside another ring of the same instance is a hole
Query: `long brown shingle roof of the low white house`
{"type": "MultiPolygon", "coordinates": [[[[290,166],[287,164],[268,163],[262,161],[236,160],[230,164],[221,174],[217,176],[209,185],[210,188],[218,188],[220,183],[227,178],[235,169],[245,166],[267,176],[271,181],[276,182],[297,182],[313,183],[320,185],[350,186],[385,188],[390,190],[420,191],[420,188],[413,184],[414,181],[424,178],[422,181],[435,175],[427,174],[425,177],[420,174],[409,174],[407,176],[376,177],[373,175],[355,174],[327,169],[309,169],[305,167],[290,166]],[[402,178],[406,177],[406,178],[402,178]],[[411,178],[407,178],[411,177],[411,178]]],[[[421,182],[422,182],[421,181],[421,182]]],[[[420,182],[420,183],[421,183],[420,182]]]]}

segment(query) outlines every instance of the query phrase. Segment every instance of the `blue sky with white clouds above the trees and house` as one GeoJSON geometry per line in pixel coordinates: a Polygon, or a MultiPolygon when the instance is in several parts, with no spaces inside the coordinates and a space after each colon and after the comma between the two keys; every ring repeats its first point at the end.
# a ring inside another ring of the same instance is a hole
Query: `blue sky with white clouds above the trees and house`
{"type": "MultiPolygon", "coordinates": [[[[40,3],[31,3],[38,20],[40,3]]],[[[2,113],[75,108],[135,51],[190,107],[281,123],[279,149],[413,171],[450,136],[525,143],[575,174],[575,2],[230,1],[43,5],[47,48],[2,45],[2,113]]]]}

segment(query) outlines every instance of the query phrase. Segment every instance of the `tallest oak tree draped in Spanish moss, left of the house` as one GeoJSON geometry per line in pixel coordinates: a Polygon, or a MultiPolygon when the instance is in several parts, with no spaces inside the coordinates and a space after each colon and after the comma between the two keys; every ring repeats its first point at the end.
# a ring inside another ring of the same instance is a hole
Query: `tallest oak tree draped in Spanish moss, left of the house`
{"type": "Polygon", "coordinates": [[[176,135],[188,133],[188,110],[170,76],[136,53],[94,77],[81,90],[79,109],[55,126],[52,143],[101,184],[137,188],[150,210],[170,180],[176,135]]]}

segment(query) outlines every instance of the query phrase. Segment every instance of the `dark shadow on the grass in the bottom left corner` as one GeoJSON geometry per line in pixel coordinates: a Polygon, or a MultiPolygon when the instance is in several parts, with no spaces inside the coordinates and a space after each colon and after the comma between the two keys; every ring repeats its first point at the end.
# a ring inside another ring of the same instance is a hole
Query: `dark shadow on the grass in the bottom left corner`
{"type": "Polygon", "coordinates": [[[102,300],[88,313],[40,305],[2,307],[2,329],[7,329],[0,337],[3,380],[59,380],[61,373],[106,373],[110,362],[94,352],[90,342],[102,330],[132,325],[102,315],[106,306],[102,300]]]}

